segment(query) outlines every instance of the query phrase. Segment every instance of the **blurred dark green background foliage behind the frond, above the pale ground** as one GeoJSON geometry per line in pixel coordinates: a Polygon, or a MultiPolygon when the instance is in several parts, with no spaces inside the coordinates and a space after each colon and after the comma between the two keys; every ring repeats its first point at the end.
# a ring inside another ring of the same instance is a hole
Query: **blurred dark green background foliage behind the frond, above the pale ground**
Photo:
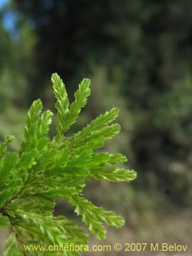
{"type": "MultiPolygon", "coordinates": [[[[126,167],[137,170],[138,178],[130,184],[91,181],[87,197],[124,215],[134,229],[188,208],[192,2],[3,2],[0,138],[16,136],[10,150],[18,150],[34,99],[53,110],[53,72],[63,78],[71,101],[78,82],[89,77],[92,95],[72,132],[113,105],[120,108],[122,130],[104,150],[125,154],[126,167]]],[[[56,209],[66,212],[60,199],[56,209]]]]}

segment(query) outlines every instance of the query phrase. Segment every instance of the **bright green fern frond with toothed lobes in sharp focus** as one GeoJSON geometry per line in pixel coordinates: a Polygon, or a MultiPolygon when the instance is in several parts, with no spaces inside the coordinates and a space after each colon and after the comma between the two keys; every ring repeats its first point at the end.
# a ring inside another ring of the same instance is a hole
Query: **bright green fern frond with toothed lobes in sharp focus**
{"type": "MultiPolygon", "coordinates": [[[[83,79],[69,105],[65,84],[52,75],[57,109],[57,135],[48,138],[53,113],[41,114],[42,103],[33,102],[25,124],[19,153],[6,152],[14,139],[7,136],[0,144],[0,227],[9,225],[4,255],[49,255],[49,251],[26,251],[24,245],[88,244],[88,234],[64,216],[54,217],[57,196],[67,198],[89,230],[102,240],[108,225],[121,227],[124,220],[113,211],[105,211],[82,197],[85,182],[94,178],[111,182],[136,178],[134,170],[109,167],[127,161],[117,154],[97,153],[106,140],[119,133],[117,108],[105,112],[72,137],[63,133],[76,121],[90,95],[90,80],[83,79]],[[40,115],[41,114],[41,115],[40,115]],[[108,164],[108,166],[106,166],[108,164]]],[[[51,252],[53,255],[77,255],[75,251],[51,252]]]]}

